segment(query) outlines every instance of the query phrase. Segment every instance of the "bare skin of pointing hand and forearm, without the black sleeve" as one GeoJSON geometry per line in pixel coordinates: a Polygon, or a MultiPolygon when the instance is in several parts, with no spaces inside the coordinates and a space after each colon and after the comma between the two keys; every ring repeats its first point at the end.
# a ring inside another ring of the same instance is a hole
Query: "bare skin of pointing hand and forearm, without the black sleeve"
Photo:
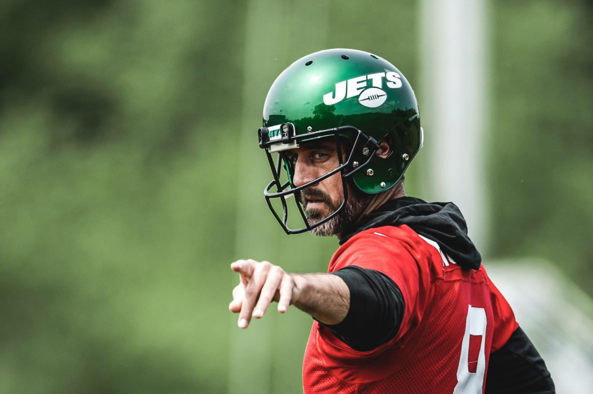
{"type": "Polygon", "coordinates": [[[294,305],[326,325],[336,325],[346,317],[350,291],[342,278],[331,274],[288,274],[277,265],[255,260],[238,260],[231,269],[240,282],[232,291],[229,310],[239,313],[238,325],[247,328],[251,317],[260,319],[272,301],[278,312],[294,305]]]}

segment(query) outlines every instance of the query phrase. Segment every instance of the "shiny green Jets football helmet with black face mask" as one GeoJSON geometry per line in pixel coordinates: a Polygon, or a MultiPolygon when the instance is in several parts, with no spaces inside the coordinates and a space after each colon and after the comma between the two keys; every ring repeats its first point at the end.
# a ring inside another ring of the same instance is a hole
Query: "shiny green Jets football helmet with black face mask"
{"type": "Polygon", "coordinates": [[[346,206],[346,185],[368,194],[392,188],[423,141],[416,97],[403,74],[379,56],[353,49],[322,50],[286,68],[267,94],[258,136],[274,177],[264,195],[287,234],[311,230],[334,217],[346,206]],[[335,139],[340,165],[295,187],[294,169],[284,152],[318,138],[335,139]],[[385,138],[391,142],[391,154],[381,158],[375,152],[385,138]],[[342,152],[341,146],[347,151],[342,152]],[[315,224],[308,223],[300,191],[338,172],[344,187],[340,208],[315,224]],[[288,228],[286,198],[291,196],[296,197],[304,220],[302,228],[288,228]],[[272,199],[280,199],[282,212],[274,208],[272,199]]]}

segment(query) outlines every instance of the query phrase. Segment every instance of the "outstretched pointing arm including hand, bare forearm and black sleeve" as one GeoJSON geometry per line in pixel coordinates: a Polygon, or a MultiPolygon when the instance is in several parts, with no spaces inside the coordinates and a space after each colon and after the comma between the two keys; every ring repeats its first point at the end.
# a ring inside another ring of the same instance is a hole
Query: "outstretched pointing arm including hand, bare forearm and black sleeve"
{"type": "Polygon", "coordinates": [[[310,314],[350,347],[366,351],[396,335],[403,319],[401,291],[387,275],[349,266],[332,274],[288,274],[277,265],[237,260],[240,274],[229,310],[239,313],[238,326],[260,319],[272,301],[278,312],[289,305],[310,314]]]}

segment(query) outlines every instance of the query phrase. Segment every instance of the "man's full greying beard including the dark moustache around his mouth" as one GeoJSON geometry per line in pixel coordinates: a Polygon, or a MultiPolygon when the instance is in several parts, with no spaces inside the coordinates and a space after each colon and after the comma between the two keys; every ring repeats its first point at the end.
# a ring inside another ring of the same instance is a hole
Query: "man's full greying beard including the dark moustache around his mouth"
{"type": "MultiPolygon", "coordinates": [[[[352,223],[358,215],[365,208],[368,201],[372,198],[370,195],[366,195],[358,190],[353,190],[349,185],[347,187],[348,198],[346,205],[342,211],[338,212],[333,218],[314,227],[310,230],[311,233],[316,236],[328,237],[337,234],[341,234],[343,230],[352,223]]],[[[301,202],[305,211],[305,218],[309,225],[314,225],[329,215],[336,212],[342,201],[334,202],[330,196],[318,189],[304,189],[301,192],[301,202]],[[307,199],[321,200],[326,205],[326,209],[307,208],[307,199]]]]}

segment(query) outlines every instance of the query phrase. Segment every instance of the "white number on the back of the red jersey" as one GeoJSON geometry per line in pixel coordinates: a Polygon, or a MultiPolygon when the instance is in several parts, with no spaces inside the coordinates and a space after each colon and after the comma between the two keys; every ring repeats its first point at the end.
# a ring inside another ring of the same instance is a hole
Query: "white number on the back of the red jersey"
{"type": "Polygon", "coordinates": [[[484,372],[486,371],[486,310],[469,306],[466,318],[466,332],[461,342],[461,357],[457,367],[457,385],[453,394],[482,394],[484,372]],[[478,345],[479,352],[476,354],[478,345]],[[477,356],[477,358],[476,358],[477,356]]]}

